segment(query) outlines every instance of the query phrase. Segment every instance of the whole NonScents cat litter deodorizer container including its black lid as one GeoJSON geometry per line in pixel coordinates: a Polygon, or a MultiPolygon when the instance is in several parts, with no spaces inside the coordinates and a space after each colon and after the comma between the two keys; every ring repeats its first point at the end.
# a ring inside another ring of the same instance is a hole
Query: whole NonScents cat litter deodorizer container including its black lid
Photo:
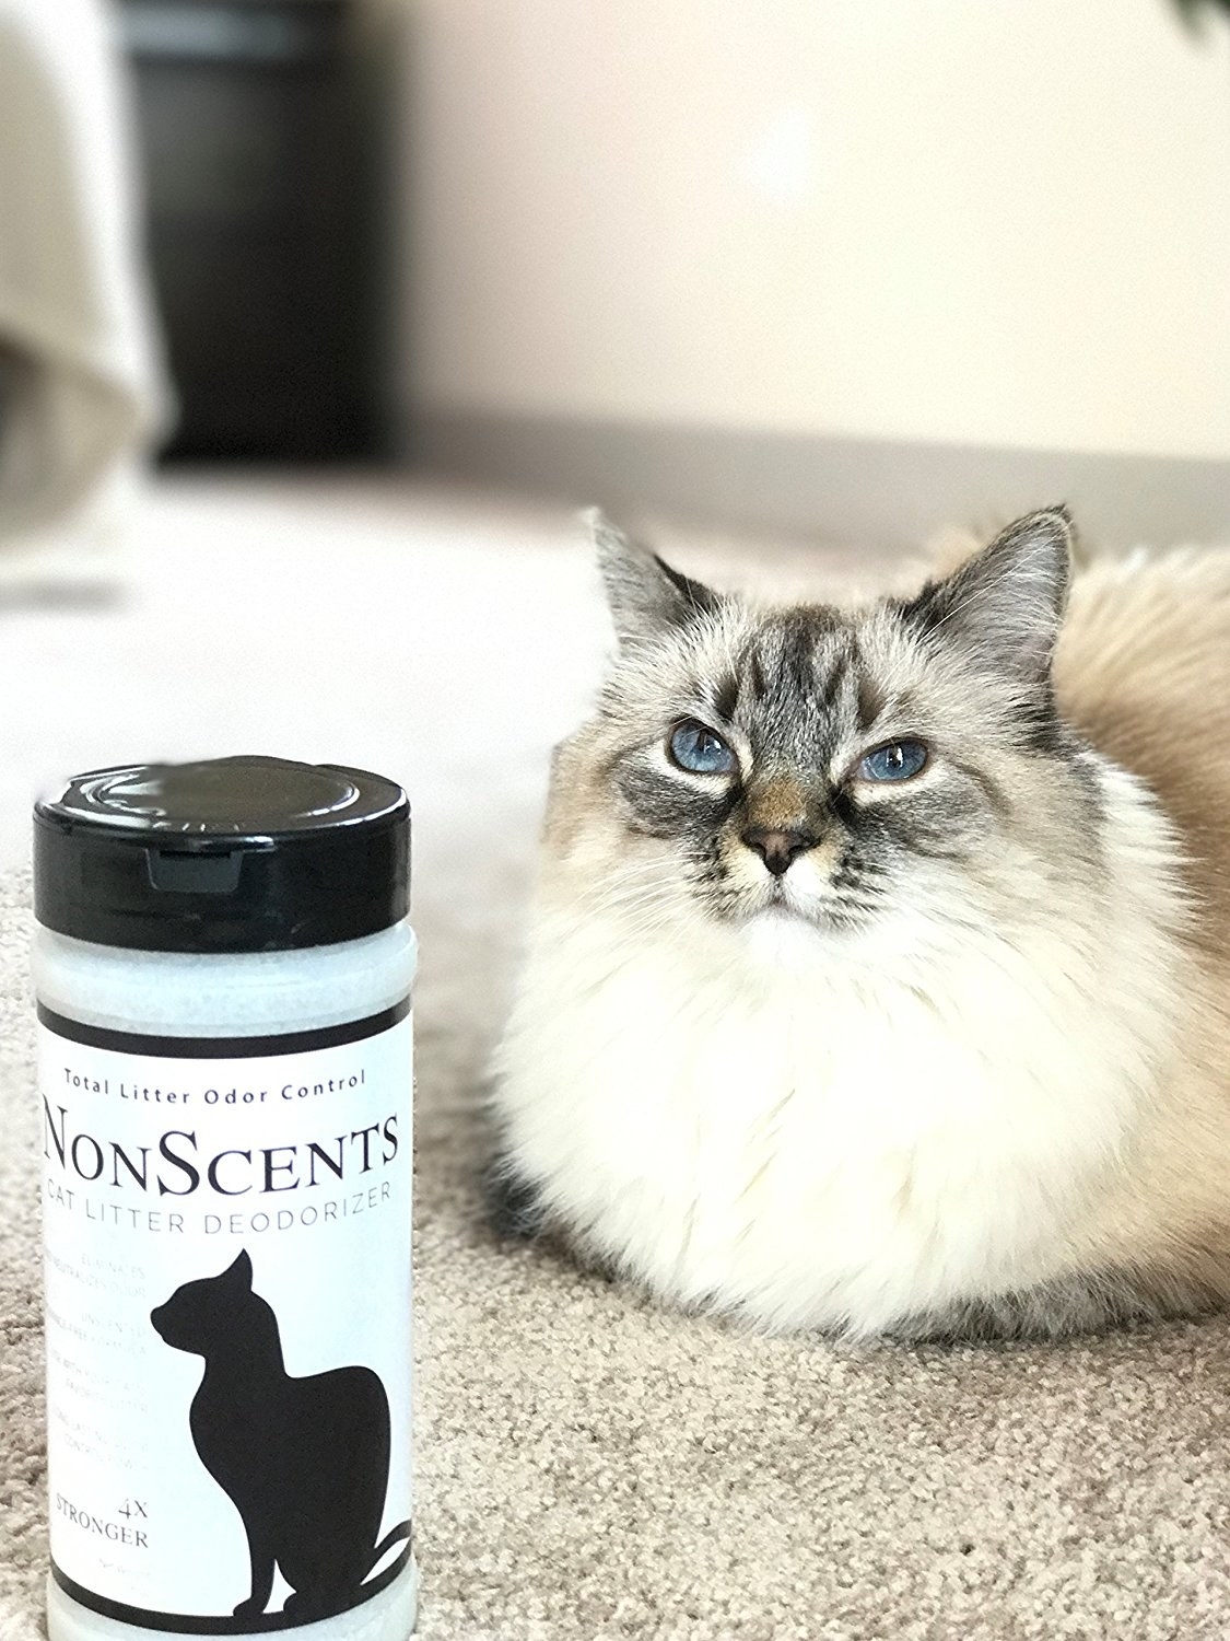
{"type": "Polygon", "coordinates": [[[34,811],[51,1641],[405,1641],[410,806],[280,758],[34,811]]]}

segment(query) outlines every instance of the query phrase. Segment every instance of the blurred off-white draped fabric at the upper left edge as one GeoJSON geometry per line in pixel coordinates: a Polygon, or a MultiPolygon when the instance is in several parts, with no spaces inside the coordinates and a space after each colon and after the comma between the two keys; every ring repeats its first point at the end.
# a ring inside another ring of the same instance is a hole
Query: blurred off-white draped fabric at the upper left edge
{"type": "Polygon", "coordinates": [[[166,417],[105,0],[0,0],[0,561],[166,417]]]}

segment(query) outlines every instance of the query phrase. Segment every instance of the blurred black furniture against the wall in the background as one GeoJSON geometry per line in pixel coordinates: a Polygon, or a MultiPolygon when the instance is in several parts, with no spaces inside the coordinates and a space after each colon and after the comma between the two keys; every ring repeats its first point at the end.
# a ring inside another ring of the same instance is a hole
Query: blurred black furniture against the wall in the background
{"type": "Polygon", "coordinates": [[[148,248],[179,395],[167,458],[377,445],[371,110],[344,0],[121,0],[148,248]]]}

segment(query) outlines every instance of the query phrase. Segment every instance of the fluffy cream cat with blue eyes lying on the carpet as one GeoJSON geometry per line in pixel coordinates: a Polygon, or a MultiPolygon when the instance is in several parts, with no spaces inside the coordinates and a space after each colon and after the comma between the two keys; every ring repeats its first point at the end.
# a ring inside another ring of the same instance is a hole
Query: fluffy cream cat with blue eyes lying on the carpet
{"type": "Polygon", "coordinates": [[[494,1065],[505,1229],[766,1331],[1063,1337],[1230,1296],[1230,555],[1030,514],[758,607],[594,517],[494,1065]]]}

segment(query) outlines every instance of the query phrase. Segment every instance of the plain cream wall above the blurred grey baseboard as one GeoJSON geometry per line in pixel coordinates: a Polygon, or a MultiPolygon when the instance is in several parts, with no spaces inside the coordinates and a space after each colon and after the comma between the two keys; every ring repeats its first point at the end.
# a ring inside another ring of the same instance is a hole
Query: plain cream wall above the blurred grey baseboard
{"type": "Polygon", "coordinates": [[[1230,456],[1215,20],[405,3],[420,410],[1230,456]]]}

